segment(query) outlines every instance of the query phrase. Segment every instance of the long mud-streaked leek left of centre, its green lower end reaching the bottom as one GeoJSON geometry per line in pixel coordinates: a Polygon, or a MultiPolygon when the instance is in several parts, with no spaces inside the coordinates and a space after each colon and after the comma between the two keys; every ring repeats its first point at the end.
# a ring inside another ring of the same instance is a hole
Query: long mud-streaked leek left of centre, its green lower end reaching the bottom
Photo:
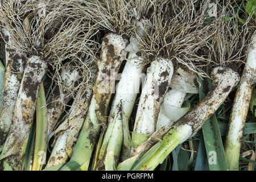
{"type": "Polygon", "coordinates": [[[106,130],[108,106],[115,88],[115,78],[122,61],[126,58],[126,40],[121,35],[107,34],[102,39],[100,60],[94,95],[90,102],[89,112],[86,115],[77,143],[73,148],[71,160],[62,170],[72,170],[77,164],[80,169],[88,170],[90,159],[102,126],[106,130]]]}

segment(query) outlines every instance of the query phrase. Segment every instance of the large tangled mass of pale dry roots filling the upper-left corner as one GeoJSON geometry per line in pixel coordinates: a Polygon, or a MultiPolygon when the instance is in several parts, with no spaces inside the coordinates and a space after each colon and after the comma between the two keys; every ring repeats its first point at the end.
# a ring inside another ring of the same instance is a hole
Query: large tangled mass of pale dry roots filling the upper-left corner
{"type": "MultiPolygon", "coordinates": [[[[42,56],[48,61],[54,70],[49,76],[60,90],[65,87],[60,78],[63,61],[75,64],[83,82],[89,80],[89,69],[95,65],[95,52],[99,46],[93,40],[98,28],[91,25],[88,17],[81,16],[81,3],[79,0],[3,0],[0,5],[0,22],[10,31],[15,49],[26,52],[28,56],[42,56]]],[[[84,84],[78,84],[72,90],[81,85],[84,84]]]]}

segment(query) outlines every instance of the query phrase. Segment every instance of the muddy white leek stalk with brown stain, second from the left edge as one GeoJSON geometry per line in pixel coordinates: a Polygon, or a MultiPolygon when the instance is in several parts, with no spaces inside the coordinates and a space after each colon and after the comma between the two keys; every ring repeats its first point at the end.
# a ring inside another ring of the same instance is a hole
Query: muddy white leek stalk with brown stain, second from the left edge
{"type": "Polygon", "coordinates": [[[31,56],[27,60],[9,134],[0,156],[0,159],[6,158],[3,160],[3,165],[9,165],[15,170],[22,167],[24,148],[26,149],[26,140],[34,118],[39,85],[46,70],[47,63],[41,57],[31,56]]]}

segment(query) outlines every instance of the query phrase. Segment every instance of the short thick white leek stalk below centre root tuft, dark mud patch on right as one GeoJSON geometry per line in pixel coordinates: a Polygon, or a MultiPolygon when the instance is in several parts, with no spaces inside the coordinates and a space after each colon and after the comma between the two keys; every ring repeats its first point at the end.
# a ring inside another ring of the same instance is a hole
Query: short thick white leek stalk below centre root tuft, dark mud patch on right
{"type": "MultiPolygon", "coordinates": [[[[156,129],[156,122],[162,105],[164,95],[168,88],[174,67],[171,60],[158,57],[152,61],[147,68],[146,81],[142,88],[142,94],[139,99],[138,110],[135,118],[134,133],[142,135],[151,135],[156,129]]],[[[138,137],[132,136],[133,148],[131,156],[134,155],[134,147],[144,141],[138,141],[138,137]],[[135,145],[136,144],[136,145],[135,145]]]]}

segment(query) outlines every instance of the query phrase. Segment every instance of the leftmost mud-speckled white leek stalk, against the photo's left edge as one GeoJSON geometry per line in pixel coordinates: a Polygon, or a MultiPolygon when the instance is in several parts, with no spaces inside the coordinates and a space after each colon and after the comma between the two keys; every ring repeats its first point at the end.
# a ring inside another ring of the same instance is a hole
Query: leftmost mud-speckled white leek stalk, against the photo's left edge
{"type": "Polygon", "coordinates": [[[3,97],[0,110],[0,152],[3,149],[8,131],[11,125],[11,118],[15,103],[18,97],[20,81],[24,71],[26,53],[17,51],[13,47],[13,40],[10,32],[6,28],[2,28],[3,38],[6,39],[5,44],[5,81],[3,85],[3,97]]]}

